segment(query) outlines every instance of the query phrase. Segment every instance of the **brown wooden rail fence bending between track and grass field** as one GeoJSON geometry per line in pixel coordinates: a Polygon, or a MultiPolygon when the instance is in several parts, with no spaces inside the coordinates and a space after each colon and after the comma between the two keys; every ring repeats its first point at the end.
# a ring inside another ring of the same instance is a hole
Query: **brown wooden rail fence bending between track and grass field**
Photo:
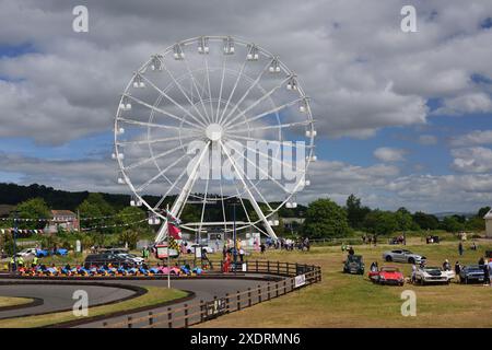
{"type": "MultiPolygon", "coordinates": [[[[219,265],[220,261],[216,264],[219,265]]],[[[258,281],[256,288],[225,293],[223,296],[214,296],[208,301],[200,300],[196,303],[169,306],[162,311],[129,315],[115,323],[103,322],[102,326],[104,328],[187,328],[321,281],[320,267],[313,265],[255,260],[244,262],[242,268],[247,273],[273,275],[280,278],[274,282],[258,281]]]]}

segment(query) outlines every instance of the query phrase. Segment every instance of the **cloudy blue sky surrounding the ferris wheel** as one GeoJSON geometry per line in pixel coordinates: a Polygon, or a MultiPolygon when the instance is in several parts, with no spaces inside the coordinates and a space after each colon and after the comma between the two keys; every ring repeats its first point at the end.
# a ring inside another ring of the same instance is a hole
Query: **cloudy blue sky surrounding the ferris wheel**
{"type": "Polygon", "coordinates": [[[110,153],[131,72],[175,40],[230,33],[279,54],[312,97],[319,162],[300,201],[354,192],[371,207],[433,212],[492,203],[491,4],[417,1],[418,32],[407,34],[403,1],[302,11],[288,1],[231,1],[220,14],[174,0],[87,1],[85,34],[71,30],[65,1],[3,1],[0,182],[128,191],[114,184],[110,153]]]}

